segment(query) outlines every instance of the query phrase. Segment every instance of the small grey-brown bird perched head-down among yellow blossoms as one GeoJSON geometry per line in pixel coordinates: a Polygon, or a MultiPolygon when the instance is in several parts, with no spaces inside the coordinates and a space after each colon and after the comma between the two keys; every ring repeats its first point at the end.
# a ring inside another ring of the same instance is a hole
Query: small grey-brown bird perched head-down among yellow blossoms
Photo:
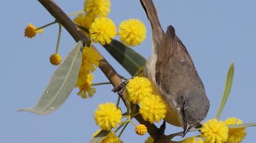
{"type": "Polygon", "coordinates": [[[193,61],[174,27],[163,32],[152,0],[140,0],[152,28],[152,53],[143,75],[168,107],[165,121],[183,127],[183,135],[208,113],[210,102],[193,61]]]}

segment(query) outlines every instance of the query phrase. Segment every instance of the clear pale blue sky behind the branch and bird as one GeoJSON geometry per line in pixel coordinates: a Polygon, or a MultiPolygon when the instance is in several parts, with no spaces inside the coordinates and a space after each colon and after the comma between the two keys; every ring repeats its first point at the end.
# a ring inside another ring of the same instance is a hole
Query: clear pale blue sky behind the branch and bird
{"type": "MultiPolygon", "coordinates": [[[[55,1],[66,13],[82,10],[83,0],[55,1]]],[[[230,98],[221,119],[238,117],[244,122],[256,122],[256,2],[239,1],[170,1],[155,0],[162,27],[171,24],[190,52],[210,99],[210,111],[205,119],[214,118],[221,101],[227,70],[235,63],[235,76],[230,98]]],[[[98,126],[93,113],[98,104],[116,102],[111,85],[97,87],[93,98],[82,99],[73,90],[59,110],[46,116],[15,110],[33,106],[49,82],[56,67],[49,63],[55,51],[58,25],[44,29],[43,35],[24,38],[24,28],[30,22],[37,27],[54,21],[38,1],[1,1],[0,56],[0,142],[88,142],[98,126]]],[[[116,25],[125,19],[141,19],[147,27],[146,40],[134,49],[148,58],[151,53],[151,27],[138,0],[112,0],[109,15],[116,25]]],[[[59,53],[63,58],[76,43],[63,30],[59,53]]],[[[119,74],[129,77],[100,45],[98,50],[119,74]]],[[[94,73],[94,83],[106,82],[101,70],[94,73]]],[[[181,131],[167,126],[166,133],[181,131]]],[[[191,134],[188,134],[188,136],[191,134]]],[[[247,128],[244,142],[256,142],[256,127],[247,128]]],[[[148,134],[138,136],[129,124],[121,139],[143,142],[148,134]]],[[[178,140],[180,138],[177,138],[178,140]]]]}

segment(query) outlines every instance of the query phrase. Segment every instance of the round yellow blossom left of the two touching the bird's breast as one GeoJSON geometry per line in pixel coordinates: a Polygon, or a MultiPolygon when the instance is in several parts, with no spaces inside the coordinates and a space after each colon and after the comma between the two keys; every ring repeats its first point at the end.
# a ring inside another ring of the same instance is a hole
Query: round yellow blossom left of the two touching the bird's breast
{"type": "Polygon", "coordinates": [[[105,104],[100,104],[95,110],[94,120],[99,127],[103,130],[111,130],[115,128],[122,118],[122,113],[115,104],[107,102],[105,104]]]}

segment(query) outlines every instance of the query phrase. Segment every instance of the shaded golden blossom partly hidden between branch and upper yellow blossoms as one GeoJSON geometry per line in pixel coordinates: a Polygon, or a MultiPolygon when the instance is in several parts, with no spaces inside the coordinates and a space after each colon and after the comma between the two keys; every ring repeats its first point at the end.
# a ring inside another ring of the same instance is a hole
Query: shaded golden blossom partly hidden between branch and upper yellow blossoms
{"type": "Polygon", "coordinates": [[[74,22],[89,29],[91,27],[91,23],[93,22],[94,15],[93,13],[85,13],[79,14],[76,18],[74,18],[74,22]]]}

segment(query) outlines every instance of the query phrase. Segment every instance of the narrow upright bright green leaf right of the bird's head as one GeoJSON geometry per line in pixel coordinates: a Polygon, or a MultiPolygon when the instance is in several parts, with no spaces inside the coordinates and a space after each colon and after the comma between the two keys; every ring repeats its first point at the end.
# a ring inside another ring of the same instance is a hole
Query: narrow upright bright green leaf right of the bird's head
{"type": "Polygon", "coordinates": [[[233,76],[234,76],[234,63],[232,62],[232,64],[229,67],[229,71],[227,73],[225,89],[224,89],[224,93],[222,95],[221,104],[219,104],[219,109],[218,109],[218,112],[216,115],[216,119],[219,119],[219,117],[221,116],[223,108],[227,102],[227,98],[229,98],[229,93],[231,91],[232,83],[233,83],[233,76]]]}

